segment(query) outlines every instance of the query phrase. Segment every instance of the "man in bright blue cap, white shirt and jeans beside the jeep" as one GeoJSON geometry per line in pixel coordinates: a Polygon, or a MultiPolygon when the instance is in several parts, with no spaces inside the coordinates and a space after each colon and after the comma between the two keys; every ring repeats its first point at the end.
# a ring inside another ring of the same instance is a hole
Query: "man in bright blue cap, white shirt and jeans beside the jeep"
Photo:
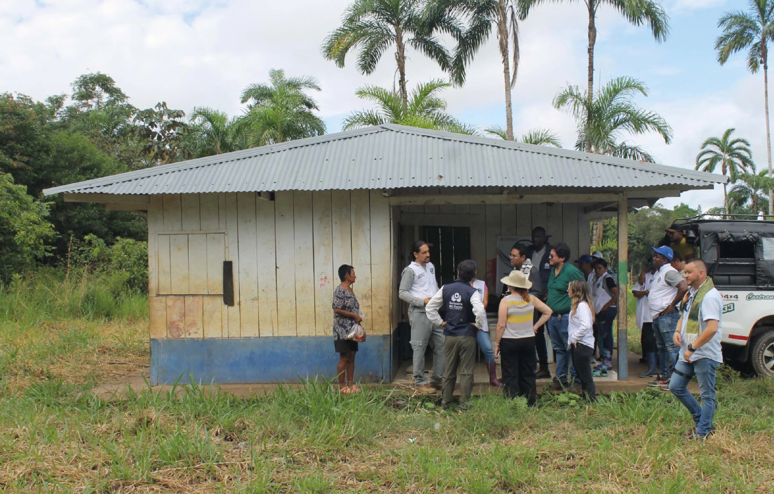
{"type": "Polygon", "coordinates": [[[671,369],[677,362],[673,336],[680,312],[675,307],[687,293],[688,284],[670,264],[674,257],[672,249],[664,245],[653,247],[653,252],[653,265],[657,271],[648,293],[648,303],[653,315],[653,335],[656,337],[662,374],[648,384],[660,387],[669,385],[671,369]]]}

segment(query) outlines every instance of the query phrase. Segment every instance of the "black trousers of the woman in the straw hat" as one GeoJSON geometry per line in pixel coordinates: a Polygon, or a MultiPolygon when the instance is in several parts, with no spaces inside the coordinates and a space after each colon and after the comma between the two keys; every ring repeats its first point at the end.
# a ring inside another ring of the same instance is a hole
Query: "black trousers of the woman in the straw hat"
{"type": "MultiPolygon", "coordinates": [[[[509,398],[524,396],[527,405],[535,404],[535,341],[537,338],[502,338],[500,366],[502,393],[509,398]]],[[[546,348],[546,345],[543,345],[546,348]]]]}

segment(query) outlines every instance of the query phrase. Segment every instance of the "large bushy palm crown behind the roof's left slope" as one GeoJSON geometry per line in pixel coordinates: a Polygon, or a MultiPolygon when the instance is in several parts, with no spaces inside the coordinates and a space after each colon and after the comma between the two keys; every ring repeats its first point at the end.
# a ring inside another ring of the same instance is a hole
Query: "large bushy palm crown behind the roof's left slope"
{"type": "Polygon", "coordinates": [[[325,123],[313,113],[319,110],[305,91],[320,91],[313,77],[285,77],[285,71],[269,70],[269,84],[250,84],[241,94],[248,103],[245,115],[234,122],[234,132],[245,136],[248,146],[321,136],[325,123]]]}

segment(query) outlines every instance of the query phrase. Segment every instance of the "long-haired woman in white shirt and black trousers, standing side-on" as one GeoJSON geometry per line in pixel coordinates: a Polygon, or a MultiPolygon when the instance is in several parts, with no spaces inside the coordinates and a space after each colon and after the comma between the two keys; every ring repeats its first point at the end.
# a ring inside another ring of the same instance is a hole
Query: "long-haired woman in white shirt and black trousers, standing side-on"
{"type": "Polygon", "coordinates": [[[570,318],[567,321],[567,349],[577,372],[580,385],[589,401],[597,399],[591,364],[594,359],[594,300],[584,280],[572,280],[567,286],[570,296],[570,318]]]}

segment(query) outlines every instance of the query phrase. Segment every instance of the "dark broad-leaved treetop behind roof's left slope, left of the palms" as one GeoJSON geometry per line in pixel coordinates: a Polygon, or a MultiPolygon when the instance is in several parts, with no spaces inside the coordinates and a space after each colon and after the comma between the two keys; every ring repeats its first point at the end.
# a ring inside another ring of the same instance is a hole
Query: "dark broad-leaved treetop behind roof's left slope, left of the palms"
{"type": "Polygon", "coordinates": [[[186,122],[183,122],[185,116],[185,111],[167,107],[166,101],[138,111],[135,115],[135,135],[146,142],[143,151],[159,165],[175,159],[186,129],[186,122]]]}

